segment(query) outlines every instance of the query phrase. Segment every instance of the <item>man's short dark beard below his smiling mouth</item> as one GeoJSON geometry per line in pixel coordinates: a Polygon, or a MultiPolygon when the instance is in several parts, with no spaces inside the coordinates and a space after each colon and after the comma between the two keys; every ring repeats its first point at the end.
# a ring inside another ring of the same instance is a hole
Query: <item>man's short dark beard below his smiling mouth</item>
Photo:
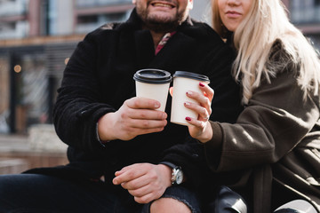
{"type": "Polygon", "coordinates": [[[186,20],[187,17],[185,13],[177,13],[175,17],[171,18],[149,15],[147,11],[138,11],[138,14],[140,15],[140,18],[144,22],[145,26],[157,33],[175,30],[184,20],[186,20]]]}

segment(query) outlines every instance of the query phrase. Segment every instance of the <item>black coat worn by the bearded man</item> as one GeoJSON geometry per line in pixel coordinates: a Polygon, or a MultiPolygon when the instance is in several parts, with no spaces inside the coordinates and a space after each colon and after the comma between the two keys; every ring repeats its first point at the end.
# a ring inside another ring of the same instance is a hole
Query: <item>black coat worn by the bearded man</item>
{"type": "MultiPolygon", "coordinates": [[[[40,169],[70,178],[105,177],[106,187],[130,198],[120,185],[113,186],[115,171],[137,162],[173,162],[182,167],[186,185],[200,187],[204,156],[186,126],[168,119],[164,131],[141,135],[130,141],[115,140],[104,146],[96,137],[96,123],[103,114],[115,112],[135,96],[133,74],[142,68],[159,68],[173,74],[189,71],[210,77],[215,91],[213,121],[235,122],[240,109],[239,87],[230,73],[233,55],[212,28],[186,20],[155,56],[155,47],[135,11],[124,23],[108,24],[85,36],[68,61],[54,108],[54,124],[68,144],[67,166],[40,169]],[[186,142],[192,143],[184,145],[186,142]],[[173,147],[171,151],[171,147],[173,147]]],[[[170,118],[171,97],[165,112],[170,118]]]]}

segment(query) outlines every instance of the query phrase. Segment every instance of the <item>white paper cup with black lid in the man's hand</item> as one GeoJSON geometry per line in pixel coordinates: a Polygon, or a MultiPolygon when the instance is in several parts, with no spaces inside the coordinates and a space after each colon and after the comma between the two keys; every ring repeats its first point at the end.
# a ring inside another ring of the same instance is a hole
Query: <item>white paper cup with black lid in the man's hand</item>
{"type": "Polygon", "coordinates": [[[157,110],[164,111],[172,75],[164,70],[148,68],[138,70],[133,79],[136,83],[136,96],[156,99],[161,104],[157,110]]]}

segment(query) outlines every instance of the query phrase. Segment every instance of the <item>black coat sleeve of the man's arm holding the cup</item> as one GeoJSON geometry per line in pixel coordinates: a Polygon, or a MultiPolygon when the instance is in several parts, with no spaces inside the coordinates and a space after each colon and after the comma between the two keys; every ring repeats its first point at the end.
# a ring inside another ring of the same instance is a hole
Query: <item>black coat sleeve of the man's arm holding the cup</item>
{"type": "Polygon", "coordinates": [[[95,123],[102,114],[115,111],[100,101],[95,73],[98,48],[93,39],[95,33],[86,36],[69,59],[53,111],[60,139],[69,146],[89,152],[102,148],[96,139],[95,123]]]}

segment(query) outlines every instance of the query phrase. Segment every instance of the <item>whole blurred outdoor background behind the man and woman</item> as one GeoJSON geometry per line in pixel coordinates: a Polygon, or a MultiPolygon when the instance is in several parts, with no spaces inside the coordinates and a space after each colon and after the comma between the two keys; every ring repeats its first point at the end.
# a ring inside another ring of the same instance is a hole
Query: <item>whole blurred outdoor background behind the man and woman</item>
{"type": "MultiPolygon", "coordinates": [[[[283,2],[319,49],[320,0],[283,2]]],[[[85,34],[132,8],[132,0],[0,0],[0,174],[66,162],[52,126],[64,67],[85,34]],[[1,172],[10,161],[16,169],[1,172]]],[[[209,10],[210,0],[194,0],[191,17],[210,24],[209,10]]]]}

